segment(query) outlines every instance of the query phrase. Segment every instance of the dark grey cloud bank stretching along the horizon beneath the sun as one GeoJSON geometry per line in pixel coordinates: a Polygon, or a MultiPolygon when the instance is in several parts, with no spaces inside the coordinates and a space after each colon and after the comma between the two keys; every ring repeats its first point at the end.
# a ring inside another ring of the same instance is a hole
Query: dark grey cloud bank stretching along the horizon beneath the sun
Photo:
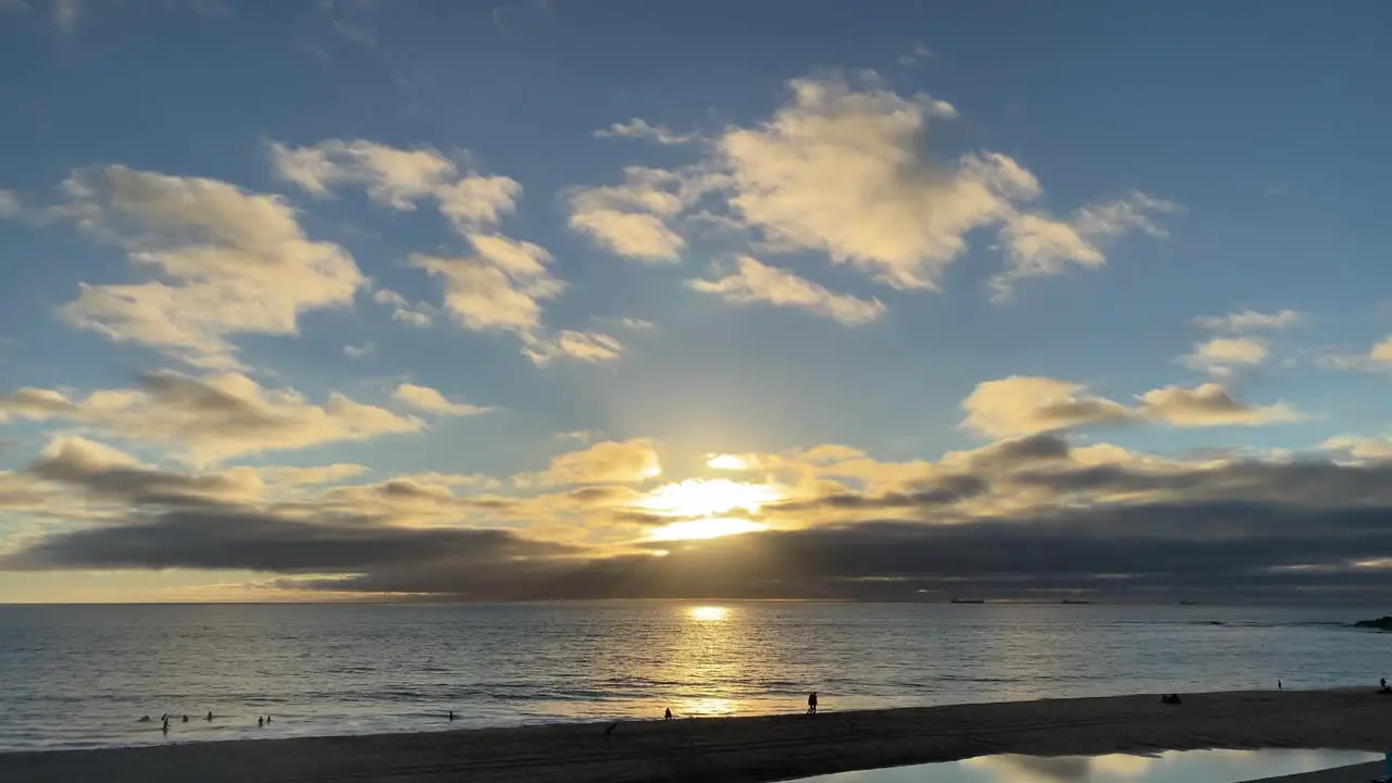
{"type": "Polygon", "coordinates": [[[849,514],[849,522],[653,543],[654,553],[617,557],[472,529],[464,527],[466,510],[459,528],[429,529],[306,506],[274,513],[220,502],[187,478],[84,472],[50,460],[31,471],[106,496],[125,493],[142,506],[117,524],[39,539],[0,567],[249,568],[327,574],[294,584],[330,592],[468,600],[963,595],[1361,603],[1392,596],[1385,567],[1392,566],[1392,465],[1237,461],[1155,472],[1063,464],[1066,449],[1048,440],[1013,449],[910,492],[844,493],[766,510],[771,518],[830,510],[849,514]],[[1002,458],[1013,460],[1009,471],[1002,458]],[[1055,496],[1148,499],[1055,503],[1018,517],[949,513],[1002,483],[1055,496]],[[881,518],[889,509],[916,520],[881,518]]]}

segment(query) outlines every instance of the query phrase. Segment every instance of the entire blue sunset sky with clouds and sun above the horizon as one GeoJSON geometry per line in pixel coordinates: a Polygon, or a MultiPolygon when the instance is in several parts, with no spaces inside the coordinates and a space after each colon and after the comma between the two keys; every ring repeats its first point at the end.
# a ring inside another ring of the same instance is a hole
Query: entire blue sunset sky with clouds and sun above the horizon
{"type": "Polygon", "coordinates": [[[1385,599],[1389,52],[0,0],[0,602],[1385,599]]]}

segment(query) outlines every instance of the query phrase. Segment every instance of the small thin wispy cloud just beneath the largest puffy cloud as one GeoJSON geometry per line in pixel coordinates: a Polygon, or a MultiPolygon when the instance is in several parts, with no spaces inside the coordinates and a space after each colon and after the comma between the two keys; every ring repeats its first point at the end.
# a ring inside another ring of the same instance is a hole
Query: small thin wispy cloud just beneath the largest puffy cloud
{"type": "Polygon", "coordinates": [[[715,294],[731,304],[768,302],[775,307],[805,309],[846,326],[870,323],[884,315],[880,300],[862,300],[834,294],[785,269],[766,266],[750,256],[741,256],[736,269],[717,280],[688,280],[686,287],[715,294]]]}

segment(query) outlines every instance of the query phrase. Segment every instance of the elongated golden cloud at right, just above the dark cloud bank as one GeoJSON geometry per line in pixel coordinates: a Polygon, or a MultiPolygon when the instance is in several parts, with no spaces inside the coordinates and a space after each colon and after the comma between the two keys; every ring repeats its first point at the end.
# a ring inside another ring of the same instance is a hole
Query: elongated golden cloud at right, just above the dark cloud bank
{"type": "Polygon", "coordinates": [[[1015,437],[1089,425],[1154,422],[1171,426],[1258,426],[1300,421],[1285,403],[1249,405],[1222,386],[1169,386],[1123,405],[1087,393],[1080,383],[1052,378],[1011,376],[979,383],[962,401],[963,426],[992,437],[1015,437]]]}

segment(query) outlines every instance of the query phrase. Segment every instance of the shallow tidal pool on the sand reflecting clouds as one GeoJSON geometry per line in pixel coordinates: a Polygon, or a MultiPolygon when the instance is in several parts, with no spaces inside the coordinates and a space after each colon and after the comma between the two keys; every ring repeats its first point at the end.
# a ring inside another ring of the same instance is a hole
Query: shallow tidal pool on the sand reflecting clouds
{"type": "Polygon", "coordinates": [[[1235,783],[1378,761],[1364,751],[1164,751],[1098,757],[990,755],[805,777],[802,783],[1235,783]]]}

